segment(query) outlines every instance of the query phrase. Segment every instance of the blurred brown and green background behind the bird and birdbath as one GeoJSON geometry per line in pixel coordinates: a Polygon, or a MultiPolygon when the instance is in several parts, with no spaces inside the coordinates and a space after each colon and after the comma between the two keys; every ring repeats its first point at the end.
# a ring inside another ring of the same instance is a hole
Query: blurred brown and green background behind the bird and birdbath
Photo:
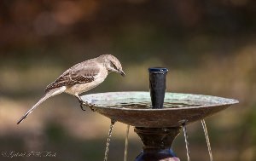
{"type": "MultiPolygon", "coordinates": [[[[110,120],[58,95],[20,125],[44,88],[70,66],[115,55],[111,74],[88,93],[148,91],[148,67],[165,66],[167,91],[235,98],[207,118],[214,160],[256,158],[256,2],[253,0],[2,0],[0,3],[0,160],[4,152],[55,152],[13,160],[103,160],[110,120]]],[[[125,124],[117,123],[109,161],[122,160],[125,124]]],[[[191,124],[191,159],[209,160],[201,123],[191,124]]],[[[131,129],[128,160],[142,148],[131,129]]],[[[174,151],[186,160],[183,134],[174,151]]]]}

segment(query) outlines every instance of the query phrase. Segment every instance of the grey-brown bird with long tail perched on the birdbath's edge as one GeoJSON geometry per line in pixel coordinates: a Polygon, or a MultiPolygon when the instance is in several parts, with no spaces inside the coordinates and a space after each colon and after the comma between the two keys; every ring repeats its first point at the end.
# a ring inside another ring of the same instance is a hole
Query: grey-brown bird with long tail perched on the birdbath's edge
{"type": "Polygon", "coordinates": [[[84,102],[79,95],[98,86],[107,78],[110,72],[118,72],[123,77],[125,76],[120,61],[113,55],[100,55],[94,59],[84,60],[70,67],[55,82],[50,83],[46,87],[43,97],[20,118],[17,124],[20,124],[34,109],[49,99],[49,97],[61,93],[74,95],[79,100],[81,109],[84,110],[83,105],[90,106],[90,104],[84,102]]]}

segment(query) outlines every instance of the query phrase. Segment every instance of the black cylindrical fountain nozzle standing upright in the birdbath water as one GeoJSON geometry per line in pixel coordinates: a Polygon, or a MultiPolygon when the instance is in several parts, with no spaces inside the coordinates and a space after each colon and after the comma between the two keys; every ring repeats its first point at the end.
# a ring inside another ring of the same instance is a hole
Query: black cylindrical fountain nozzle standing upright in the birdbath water
{"type": "Polygon", "coordinates": [[[152,108],[163,108],[168,69],[165,67],[150,67],[148,72],[152,108]]]}

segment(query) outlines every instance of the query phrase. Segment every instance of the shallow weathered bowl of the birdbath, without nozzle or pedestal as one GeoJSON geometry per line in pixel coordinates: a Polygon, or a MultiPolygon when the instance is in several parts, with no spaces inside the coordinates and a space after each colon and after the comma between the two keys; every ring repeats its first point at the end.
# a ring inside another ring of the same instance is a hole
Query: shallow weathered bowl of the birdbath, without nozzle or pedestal
{"type": "Polygon", "coordinates": [[[210,95],[166,92],[164,108],[152,109],[148,92],[108,92],[82,96],[96,112],[135,127],[175,128],[201,120],[238,103],[210,95]]]}

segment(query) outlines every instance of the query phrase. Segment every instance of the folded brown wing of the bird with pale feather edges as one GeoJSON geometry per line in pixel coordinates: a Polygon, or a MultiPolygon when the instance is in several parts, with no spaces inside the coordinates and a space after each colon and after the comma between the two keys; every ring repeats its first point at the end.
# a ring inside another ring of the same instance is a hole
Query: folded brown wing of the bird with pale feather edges
{"type": "Polygon", "coordinates": [[[100,72],[100,66],[96,62],[80,63],[64,72],[54,83],[50,83],[45,92],[62,86],[72,86],[79,83],[90,83],[100,72]]]}

